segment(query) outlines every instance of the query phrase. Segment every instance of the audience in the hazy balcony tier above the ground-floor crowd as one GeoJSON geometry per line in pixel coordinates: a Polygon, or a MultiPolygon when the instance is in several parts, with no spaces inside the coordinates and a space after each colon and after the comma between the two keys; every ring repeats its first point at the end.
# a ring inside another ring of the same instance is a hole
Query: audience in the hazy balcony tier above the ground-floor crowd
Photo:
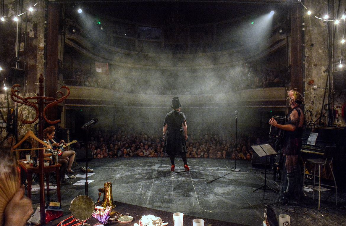
{"type": "MultiPolygon", "coordinates": [[[[125,70],[124,70],[125,71],[125,70]]],[[[228,93],[244,89],[267,88],[267,87],[285,87],[290,84],[289,71],[287,69],[264,68],[259,64],[237,65],[231,69],[225,69],[219,72],[210,72],[213,76],[211,82],[210,76],[195,75],[193,80],[186,81],[185,75],[176,74],[176,84],[180,86],[166,86],[166,81],[160,81],[155,77],[155,72],[146,71],[141,73],[149,74],[149,79],[153,84],[148,84],[147,76],[138,76],[139,71],[126,71],[123,74],[105,75],[92,70],[80,70],[79,68],[66,69],[61,71],[63,81],[66,85],[76,85],[84,87],[97,87],[112,89],[117,92],[140,93],[140,94],[161,94],[172,95],[181,94],[210,94],[210,93],[228,93]],[[153,74],[150,77],[150,74],[153,74]],[[208,87],[208,89],[203,89],[208,87]]],[[[157,72],[161,73],[161,72],[157,72]]]]}

